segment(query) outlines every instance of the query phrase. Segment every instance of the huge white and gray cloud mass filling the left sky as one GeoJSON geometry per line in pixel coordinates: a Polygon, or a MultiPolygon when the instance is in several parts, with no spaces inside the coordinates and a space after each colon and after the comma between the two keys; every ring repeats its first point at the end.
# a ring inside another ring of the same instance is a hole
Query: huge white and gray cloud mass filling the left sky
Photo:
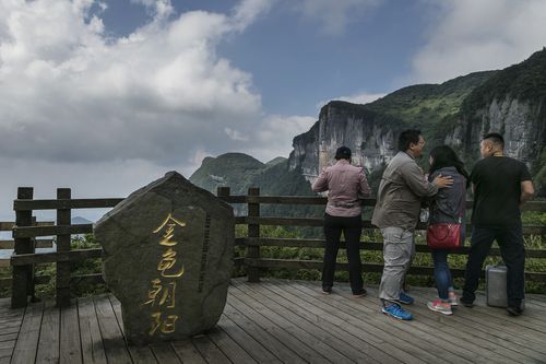
{"type": "Polygon", "coordinates": [[[122,197],[170,169],[189,177],[206,155],[287,156],[305,131],[298,117],[276,130],[251,74],[216,54],[268,1],[227,15],[135,2],[154,16],[112,39],[92,0],[0,1],[0,220],[12,220],[17,186],[122,197]]]}

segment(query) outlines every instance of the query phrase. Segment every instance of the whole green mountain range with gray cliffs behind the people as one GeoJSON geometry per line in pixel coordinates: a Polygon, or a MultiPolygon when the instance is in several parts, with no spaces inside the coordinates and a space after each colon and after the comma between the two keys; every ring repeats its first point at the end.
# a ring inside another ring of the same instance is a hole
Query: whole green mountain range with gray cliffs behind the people
{"type": "MultiPolygon", "coordinates": [[[[480,137],[501,132],[507,155],[527,164],[538,195],[546,196],[546,48],[503,70],[403,87],[366,105],[332,101],[309,131],[294,138],[288,160],[263,164],[239,153],[206,157],[190,180],[211,191],[229,186],[233,195],[245,195],[250,186],[262,195],[313,195],[309,183],[334,162],[337,146],[347,145],[375,190],[397,152],[397,134],[407,128],[424,133],[425,155],[446,143],[468,169],[479,157],[480,137]]],[[[428,167],[426,158],[419,163],[428,167]]]]}

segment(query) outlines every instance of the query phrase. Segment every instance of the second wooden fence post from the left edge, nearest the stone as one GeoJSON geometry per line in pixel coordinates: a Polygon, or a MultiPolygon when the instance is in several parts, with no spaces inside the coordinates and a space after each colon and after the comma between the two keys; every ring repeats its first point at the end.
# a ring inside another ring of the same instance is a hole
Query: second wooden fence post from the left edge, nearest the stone
{"type": "MultiPolygon", "coordinates": [[[[71,199],[70,188],[58,188],[57,199],[71,199]]],[[[70,209],[57,210],[57,225],[70,225],[71,222],[70,209]]],[[[70,234],[57,235],[57,251],[70,251],[70,234]]],[[[70,306],[70,261],[57,262],[57,307],[70,306]]]]}

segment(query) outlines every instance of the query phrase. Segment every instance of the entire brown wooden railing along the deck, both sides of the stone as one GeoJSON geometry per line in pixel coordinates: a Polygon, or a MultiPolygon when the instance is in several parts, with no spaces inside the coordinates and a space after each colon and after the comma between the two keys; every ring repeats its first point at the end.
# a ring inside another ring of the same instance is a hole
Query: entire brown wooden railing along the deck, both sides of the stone
{"type": "MultiPolygon", "coordinates": [[[[246,204],[248,214],[237,216],[236,224],[248,225],[246,237],[236,238],[236,245],[246,249],[246,256],[236,258],[236,266],[245,266],[248,280],[251,282],[260,281],[260,273],[263,269],[321,269],[320,260],[298,260],[298,259],[271,259],[263,258],[260,255],[260,248],[264,246],[275,247],[297,247],[297,248],[323,248],[323,239],[295,239],[295,238],[272,238],[260,236],[260,226],[280,225],[280,226],[322,226],[322,218],[282,218],[282,216],[261,216],[261,204],[285,204],[285,206],[324,206],[327,199],[323,197],[282,197],[282,196],[260,196],[259,188],[250,188],[247,196],[232,196],[229,188],[221,187],[217,196],[225,202],[232,204],[246,204]]],[[[112,208],[122,201],[120,198],[110,199],[72,199],[70,189],[60,188],[57,190],[57,199],[34,200],[33,188],[20,187],[17,199],[14,201],[16,221],[12,226],[14,238],[14,255],[11,257],[12,271],[12,307],[25,306],[28,296],[34,297],[34,285],[44,283],[50,277],[35,277],[34,266],[43,263],[57,263],[56,272],[56,300],[57,305],[70,305],[70,287],[80,282],[103,282],[102,274],[71,275],[70,262],[100,258],[102,249],[70,249],[70,239],[73,234],[93,233],[92,224],[71,225],[71,211],[73,209],[95,209],[112,208]],[[40,226],[33,222],[33,211],[36,210],[57,210],[57,223],[50,226],[40,226]],[[34,251],[34,239],[40,236],[56,236],[57,251],[36,254],[34,251]]],[[[375,199],[365,199],[361,201],[365,207],[372,207],[375,199]]],[[[471,207],[471,201],[467,202],[471,207]]],[[[529,202],[525,210],[546,212],[546,202],[529,202]]],[[[7,225],[2,225],[7,227],[7,225]]],[[[422,225],[420,228],[425,226],[422,225]]],[[[375,228],[369,220],[364,221],[365,230],[375,228]]],[[[467,232],[472,230],[467,225],[467,232]]],[[[524,226],[525,235],[538,234],[546,235],[546,226],[524,226]]],[[[360,246],[364,250],[382,250],[381,242],[367,242],[360,246]]],[[[429,251],[427,246],[417,245],[417,253],[429,251]]],[[[466,255],[468,248],[464,247],[456,254],[466,255]]],[[[491,249],[491,256],[500,256],[499,249],[491,249]]],[[[527,250],[527,258],[546,258],[546,250],[527,250]]],[[[381,272],[382,265],[368,263],[363,265],[365,272],[381,272]]],[[[348,270],[347,263],[337,263],[339,270],[348,270]]],[[[432,275],[431,267],[412,267],[411,274],[432,275]]],[[[463,274],[462,269],[452,270],[454,277],[463,274]]],[[[546,282],[545,272],[526,272],[525,278],[530,281],[546,282]]]]}

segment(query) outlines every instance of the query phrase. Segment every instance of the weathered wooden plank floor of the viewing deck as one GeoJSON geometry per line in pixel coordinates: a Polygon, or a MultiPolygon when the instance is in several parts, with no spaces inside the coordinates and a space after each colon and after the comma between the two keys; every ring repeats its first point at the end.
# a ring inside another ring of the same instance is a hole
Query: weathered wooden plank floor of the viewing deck
{"type": "Polygon", "coordinates": [[[111,295],[58,309],[10,309],[0,300],[3,363],[546,363],[546,296],[527,295],[524,316],[485,306],[453,316],[425,306],[434,289],[412,287],[413,321],[381,315],[377,287],[353,298],[317,282],[232,281],[217,327],[187,341],[127,347],[121,307],[111,295]]]}

